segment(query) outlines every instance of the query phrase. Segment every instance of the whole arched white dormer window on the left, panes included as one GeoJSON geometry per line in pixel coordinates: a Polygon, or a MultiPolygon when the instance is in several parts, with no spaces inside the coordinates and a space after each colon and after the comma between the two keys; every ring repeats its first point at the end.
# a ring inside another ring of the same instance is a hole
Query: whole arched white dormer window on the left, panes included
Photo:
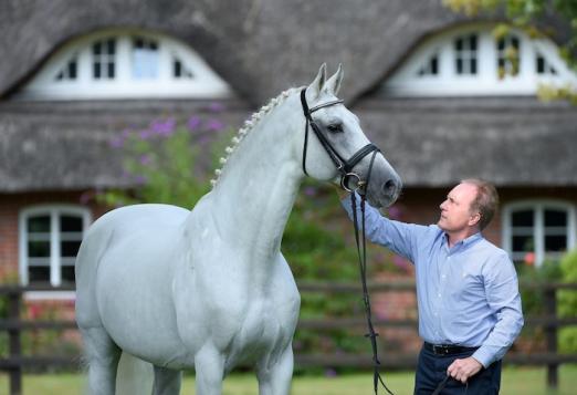
{"type": "Polygon", "coordinates": [[[20,92],[25,100],[222,98],[231,90],[190,48],[161,34],[107,31],[69,43],[20,92]]]}

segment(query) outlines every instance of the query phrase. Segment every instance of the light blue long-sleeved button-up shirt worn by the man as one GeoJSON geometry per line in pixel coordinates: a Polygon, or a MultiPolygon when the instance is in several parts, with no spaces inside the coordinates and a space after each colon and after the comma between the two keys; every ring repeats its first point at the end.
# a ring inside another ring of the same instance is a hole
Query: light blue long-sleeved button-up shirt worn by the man
{"type": "MultiPolygon", "coordinates": [[[[350,199],[343,200],[353,218],[350,199]]],[[[360,218],[360,210],[358,210],[360,218]]],[[[479,347],[483,366],[501,360],[523,326],[517,274],[507,253],[475,233],[449,248],[437,225],[389,220],[367,205],[367,237],[415,264],[419,335],[479,347]]]]}

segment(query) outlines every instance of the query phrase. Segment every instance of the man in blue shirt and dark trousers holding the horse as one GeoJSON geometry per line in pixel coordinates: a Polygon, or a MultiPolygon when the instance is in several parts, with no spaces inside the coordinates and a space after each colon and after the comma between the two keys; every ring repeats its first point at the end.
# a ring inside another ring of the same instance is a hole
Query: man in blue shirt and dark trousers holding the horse
{"type": "MultiPolygon", "coordinates": [[[[389,220],[367,206],[367,237],[415,264],[424,341],[415,394],[432,394],[447,375],[452,380],[441,394],[499,393],[501,358],[520,334],[523,314],[511,259],[481,235],[497,205],[491,184],[465,179],[441,204],[437,225],[389,220]]],[[[343,206],[353,218],[350,199],[343,206]]]]}

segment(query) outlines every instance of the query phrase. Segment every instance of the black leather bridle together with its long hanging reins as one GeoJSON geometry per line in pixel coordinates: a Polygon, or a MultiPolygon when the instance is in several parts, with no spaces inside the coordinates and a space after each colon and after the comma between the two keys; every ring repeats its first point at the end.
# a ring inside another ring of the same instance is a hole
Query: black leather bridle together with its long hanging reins
{"type": "Polygon", "coordinates": [[[358,261],[359,261],[359,269],[360,269],[360,282],[363,284],[363,302],[365,304],[365,315],[367,318],[367,328],[368,333],[366,334],[366,337],[370,340],[370,345],[373,349],[373,385],[375,389],[375,395],[378,394],[378,387],[379,383],[382,385],[382,387],[392,395],[390,389],[385,385],[385,382],[380,375],[379,368],[380,368],[380,361],[378,357],[377,352],[377,336],[378,333],[375,332],[375,328],[373,325],[371,320],[371,313],[370,313],[370,299],[369,299],[369,291],[367,287],[367,245],[366,245],[366,235],[365,235],[365,202],[366,202],[366,188],[368,187],[368,183],[370,181],[370,174],[373,171],[373,165],[375,163],[375,156],[379,152],[379,148],[377,148],[374,144],[369,143],[359,150],[357,150],[348,160],[345,160],[338,152],[331,145],[328,139],[325,137],[323,133],[321,133],[321,128],[318,125],[314,122],[313,117],[311,116],[312,113],[315,111],[328,107],[331,105],[340,104],[343,103],[342,100],[335,100],[331,102],[326,102],[319,105],[314,106],[313,108],[308,108],[308,104],[306,103],[306,89],[301,91],[301,103],[303,105],[303,112],[306,117],[306,128],[305,128],[305,139],[304,139],[304,147],[303,147],[303,171],[304,174],[308,175],[306,173],[306,150],[307,150],[307,144],[308,144],[308,125],[313,128],[313,132],[315,133],[316,137],[327,152],[328,156],[335,164],[338,173],[340,174],[340,187],[345,190],[348,190],[350,194],[350,204],[353,206],[353,224],[355,226],[355,241],[357,243],[357,253],[358,253],[358,261]],[[361,179],[360,176],[356,173],[353,173],[353,168],[367,155],[373,153],[373,156],[370,157],[370,163],[367,171],[367,178],[361,179]],[[350,178],[356,178],[356,186],[355,188],[349,188],[348,181],[350,178]],[[360,190],[360,230],[359,230],[359,224],[357,221],[357,198],[356,198],[356,190],[360,190]],[[360,233],[360,235],[359,235],[360,233]]]}

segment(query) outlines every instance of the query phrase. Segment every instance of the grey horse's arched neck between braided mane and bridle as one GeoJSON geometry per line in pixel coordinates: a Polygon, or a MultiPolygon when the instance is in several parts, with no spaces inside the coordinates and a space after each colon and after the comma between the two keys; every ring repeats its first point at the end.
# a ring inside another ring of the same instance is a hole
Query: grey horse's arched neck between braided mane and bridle
{"type": "Polygon", "coordinates": [[[229,157],[212,191],[219,235],[246,251],[250,262],[266,262],[279,253],[303,179],[295,149],[304,127],[292,95],[264,115],[229,157]]]}

